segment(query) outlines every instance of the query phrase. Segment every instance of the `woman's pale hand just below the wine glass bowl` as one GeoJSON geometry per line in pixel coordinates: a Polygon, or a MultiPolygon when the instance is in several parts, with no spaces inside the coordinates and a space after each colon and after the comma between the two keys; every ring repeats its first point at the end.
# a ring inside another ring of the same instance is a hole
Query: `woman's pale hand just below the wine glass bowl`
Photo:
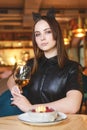
{"type": "Polygon", "coordinates": [[[17,85],[12,88],[11,94],[13,96],[13,98],[11,98],[11,104],[16,105],[21,111],[27,112],[31,104],[28,99],[21,94],[17,85]]]}

